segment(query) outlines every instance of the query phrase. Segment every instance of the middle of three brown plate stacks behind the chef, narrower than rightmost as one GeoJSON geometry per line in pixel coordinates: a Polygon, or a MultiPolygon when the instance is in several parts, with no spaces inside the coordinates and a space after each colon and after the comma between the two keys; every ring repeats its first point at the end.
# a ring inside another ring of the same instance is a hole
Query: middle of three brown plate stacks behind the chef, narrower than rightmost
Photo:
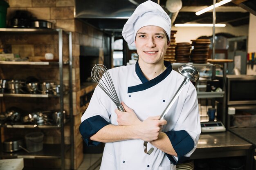
{"type": "Polygon", "coordinates": [[[177,43],[175,51],[176,62],[189,62],[191,45],[189,42],[177,43]]]}

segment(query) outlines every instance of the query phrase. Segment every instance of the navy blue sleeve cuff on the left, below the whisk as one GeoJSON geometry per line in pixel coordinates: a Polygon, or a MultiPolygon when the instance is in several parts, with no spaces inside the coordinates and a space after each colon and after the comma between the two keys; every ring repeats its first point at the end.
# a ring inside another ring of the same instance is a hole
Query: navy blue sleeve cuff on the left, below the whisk
{"type": "Polygon", "coordinates": [[[83,141],[85,141],[85,144],[87,146],[99,145],[100,142],[92,141],[90,140],[90,137],[108,124],[108,121],[99,115],[85,119],[79,126],[79,131],[82,135],[83,141]]]}

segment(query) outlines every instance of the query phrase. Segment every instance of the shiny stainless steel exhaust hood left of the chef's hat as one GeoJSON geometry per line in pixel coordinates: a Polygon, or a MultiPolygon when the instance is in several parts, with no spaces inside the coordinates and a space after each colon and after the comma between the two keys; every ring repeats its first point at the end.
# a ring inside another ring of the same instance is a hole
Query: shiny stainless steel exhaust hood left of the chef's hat
{"type": "MultiPolygon", "coordinates": [[[[75,0],[75,18],[83,20],[96,28],[118,33],[135,11],[136,7],[147,0],[75,0]]],[[[152,0],[156,2],[158,0],[152,0]]]]}

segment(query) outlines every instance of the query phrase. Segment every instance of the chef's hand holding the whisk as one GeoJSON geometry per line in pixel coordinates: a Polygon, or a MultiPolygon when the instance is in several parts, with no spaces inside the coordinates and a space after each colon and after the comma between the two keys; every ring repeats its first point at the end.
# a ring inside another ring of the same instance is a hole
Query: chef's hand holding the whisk
{"type": "Polygon", "coordinates": [[[115,110],[115,113],[117,114],[118,125],[135,125],[141,123],[141,121],[138,119],[137,115],[131,108],[126,106],[124,102],[121,102],[121,105],[123,105],[126,112],[121,112],[118,109],[115,110]]]}

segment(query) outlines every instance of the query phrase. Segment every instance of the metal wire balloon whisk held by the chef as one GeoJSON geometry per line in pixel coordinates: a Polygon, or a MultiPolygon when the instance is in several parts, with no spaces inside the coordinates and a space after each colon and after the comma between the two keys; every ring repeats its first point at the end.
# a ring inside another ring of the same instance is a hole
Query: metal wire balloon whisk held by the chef
{"type": "Polygon", "coordinates": [[[108,69],[103,64],[97,64],[92,68],[91,77],[95,83],[110,97],[115,103],[118,110],[125,112],[117,96],[117,91],[113,84],[112,78],[108,73],[108,69]]]}

